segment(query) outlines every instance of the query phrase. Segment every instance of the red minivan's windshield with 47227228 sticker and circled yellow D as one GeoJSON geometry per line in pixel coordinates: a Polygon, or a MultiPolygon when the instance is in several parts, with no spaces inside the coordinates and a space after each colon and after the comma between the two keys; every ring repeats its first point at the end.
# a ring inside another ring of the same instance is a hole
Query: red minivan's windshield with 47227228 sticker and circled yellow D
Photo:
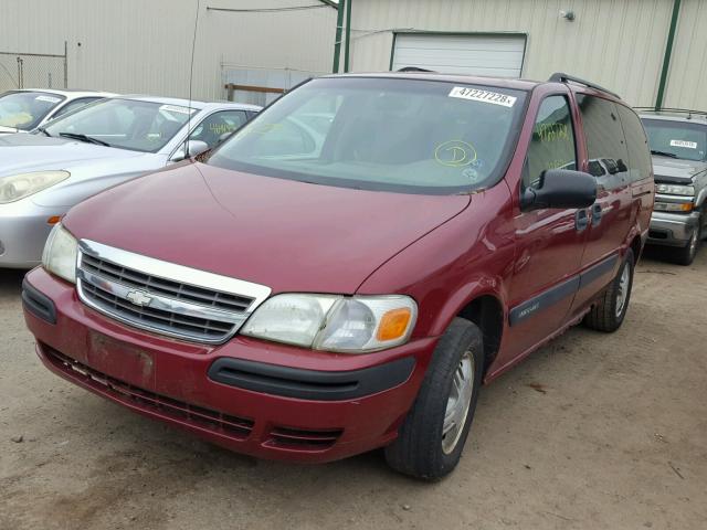
{"type": "Polygon", "coordinates": [[[503,174],[525,98],[426,80],[315,80],[263,110],[208,163],[347,188],[469,192],[503,174]]]}

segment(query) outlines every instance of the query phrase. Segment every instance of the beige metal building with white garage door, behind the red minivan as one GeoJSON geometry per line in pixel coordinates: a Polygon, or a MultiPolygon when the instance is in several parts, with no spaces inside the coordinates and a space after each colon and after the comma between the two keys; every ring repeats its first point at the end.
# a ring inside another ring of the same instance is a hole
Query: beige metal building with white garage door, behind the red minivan
{"type": "Polygon", "coordinates": [[[707,109],[707,0],[348,1],[351,71],[559,71],[633,105],[707,109]]]}

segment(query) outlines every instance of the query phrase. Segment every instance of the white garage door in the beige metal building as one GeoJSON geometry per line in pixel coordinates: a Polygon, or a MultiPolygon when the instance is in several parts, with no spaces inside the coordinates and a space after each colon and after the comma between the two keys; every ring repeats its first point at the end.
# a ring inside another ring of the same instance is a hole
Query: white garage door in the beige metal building
{"type": "Polygon", "coordinates": [[[416,66],[449,74],[520,77],[525,47],[525,35],[398,33],[392,70],[416,66]]]}

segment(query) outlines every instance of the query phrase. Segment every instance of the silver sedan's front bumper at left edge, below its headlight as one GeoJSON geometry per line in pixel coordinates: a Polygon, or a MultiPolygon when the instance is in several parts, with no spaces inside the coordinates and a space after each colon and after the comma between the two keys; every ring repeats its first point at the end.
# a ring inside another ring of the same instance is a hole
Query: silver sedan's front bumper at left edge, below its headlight
{"type": "Polygon", "coordinates": [[[52,231],[48,220],[64,213],[64,209],[39,206],[29,199],[0,204],[0,268],[36,266],[52,231]]]}

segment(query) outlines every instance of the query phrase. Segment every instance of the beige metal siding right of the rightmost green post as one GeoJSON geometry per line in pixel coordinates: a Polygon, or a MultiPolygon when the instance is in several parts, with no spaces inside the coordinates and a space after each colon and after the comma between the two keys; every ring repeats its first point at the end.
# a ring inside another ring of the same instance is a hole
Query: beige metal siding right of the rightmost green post
{"type": "Polygon", "coordinates": [[[707,1],[683,0],[664,106],[707,110],[707,1]]]}

